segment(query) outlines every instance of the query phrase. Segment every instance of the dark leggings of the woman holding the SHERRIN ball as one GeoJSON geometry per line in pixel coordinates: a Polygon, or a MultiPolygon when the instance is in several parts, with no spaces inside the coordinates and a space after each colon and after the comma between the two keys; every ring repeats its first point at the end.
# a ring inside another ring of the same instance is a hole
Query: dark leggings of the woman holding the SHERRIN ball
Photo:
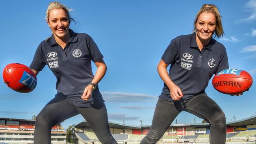
{"type": "Polygon", "coordinates": [[[167,131],[173,120],[182,111],[195,114],[210,125],[210,144],[225,144],[226,118],[221,108],[205,93],[185,102],[169,102],[158,99],[150,131],[141,144],[155,144],[167,131]]]}

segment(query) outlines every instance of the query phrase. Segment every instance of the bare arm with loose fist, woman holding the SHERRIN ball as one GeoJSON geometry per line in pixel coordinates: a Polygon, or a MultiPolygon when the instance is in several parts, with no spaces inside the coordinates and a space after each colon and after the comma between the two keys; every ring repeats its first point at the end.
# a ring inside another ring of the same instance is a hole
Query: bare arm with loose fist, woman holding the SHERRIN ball
{"type": "Polygon", "coordinates": [[[168,65],[163,60],[160,60],[158,66],[157,66],[158,74],[161,77],[161,79],[165,82],[167,87],[170,89],[170,95],[171,95],[172,99],[180,100],[183,96],[182,91],[170,79],[167,69],[166,69],[167,66],[168,65]]]}

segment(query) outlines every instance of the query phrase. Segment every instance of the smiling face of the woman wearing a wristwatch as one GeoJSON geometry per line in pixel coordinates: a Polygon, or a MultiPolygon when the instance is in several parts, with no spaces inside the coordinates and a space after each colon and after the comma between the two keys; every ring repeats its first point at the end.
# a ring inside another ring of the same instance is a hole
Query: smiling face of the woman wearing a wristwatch
{"type": "Polygon", "coordinates": [[[69,37],[69,18],[63,9],[52,9],[49,13],[48,26],[55,38],[66,39],[69,37]]]}

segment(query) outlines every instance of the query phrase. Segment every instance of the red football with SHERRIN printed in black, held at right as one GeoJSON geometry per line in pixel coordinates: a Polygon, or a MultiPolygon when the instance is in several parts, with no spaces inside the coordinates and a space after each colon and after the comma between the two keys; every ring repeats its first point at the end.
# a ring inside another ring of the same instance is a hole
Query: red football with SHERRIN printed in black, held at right
{"type": "Polygon", "coordinates": [[[252,76],[244,70],[229,68],[216,74],[212,79],[214,89],[224,94],[239,94],[250,88],[252,76]]]}

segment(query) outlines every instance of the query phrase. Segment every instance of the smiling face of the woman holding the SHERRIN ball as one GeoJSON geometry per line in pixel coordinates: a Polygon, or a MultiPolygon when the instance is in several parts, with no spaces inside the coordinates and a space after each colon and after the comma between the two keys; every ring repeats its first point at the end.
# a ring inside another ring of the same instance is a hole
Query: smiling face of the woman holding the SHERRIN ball
{"type": "Polygon", "coordinates": [[[216,28],[216,17],[213,13],[203,12],[195,24],[197,38],[201,42],[210,42],[216,28]]]}

